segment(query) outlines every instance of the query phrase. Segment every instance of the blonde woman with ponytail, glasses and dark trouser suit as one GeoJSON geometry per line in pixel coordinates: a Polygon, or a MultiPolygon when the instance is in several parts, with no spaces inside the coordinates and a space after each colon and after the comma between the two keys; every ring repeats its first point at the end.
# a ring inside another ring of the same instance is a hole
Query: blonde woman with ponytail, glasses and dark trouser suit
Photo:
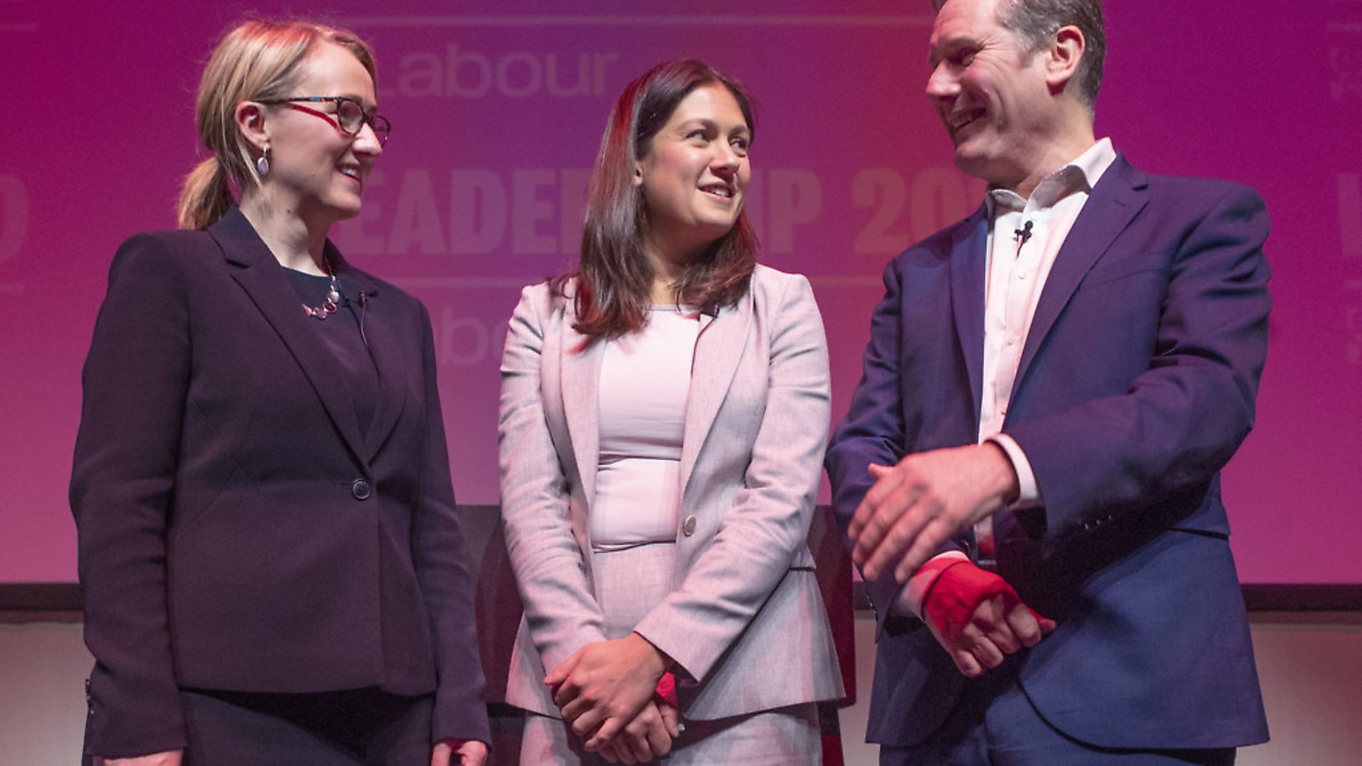
{"type": "Polygon", "coordinates": [[[114,255],[71,481],[90,762],[485,759],[430,320],[327,240],[376,108],[354,34],[237,26],[181,230],[114,255]]]}

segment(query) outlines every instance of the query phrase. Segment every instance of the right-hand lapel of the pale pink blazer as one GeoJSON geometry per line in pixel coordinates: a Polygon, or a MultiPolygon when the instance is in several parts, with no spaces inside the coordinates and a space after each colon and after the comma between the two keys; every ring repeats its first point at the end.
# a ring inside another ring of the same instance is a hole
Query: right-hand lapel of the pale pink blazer
{"type": "Polygon", "coordinates": [[[685,405],[685,429],[681,436],[681,497],[685,497],[700,447],[714,427],[719,406],[729,395],[729,386],[738,371],[738,361],[752,328],[752,290],[733,308],[719,309],[712,319],[701,316],[700,334],[691,357],[691,393],[685,405]]]}

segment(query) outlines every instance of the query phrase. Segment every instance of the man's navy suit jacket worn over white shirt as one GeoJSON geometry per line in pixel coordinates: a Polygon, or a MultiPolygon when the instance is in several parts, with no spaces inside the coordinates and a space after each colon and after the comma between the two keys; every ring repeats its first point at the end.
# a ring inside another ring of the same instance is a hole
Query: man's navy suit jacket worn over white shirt
{"type": "MultiPolygon", "coordinates": [[[[870,462],[978,439],[987,225],[981,207],[885,269],[827,457],[843,525],[870,462]]],[[[1058,622],[1017,672],[1039,713],[1081,741],[1267,739],[1219,482],[1253,425],[1267,234],[1252,189],[1118,157],[1042,292],[1002,431],[1043,507],[996,515],[998,567],[1058,622]]],[[[955,545],[970,552],[971,538],[955,545]]],[[[892,574],[866,585],[880,619],[868,739],[915,744],[964,679],[922,623],[889,615],[892,574]]]]}

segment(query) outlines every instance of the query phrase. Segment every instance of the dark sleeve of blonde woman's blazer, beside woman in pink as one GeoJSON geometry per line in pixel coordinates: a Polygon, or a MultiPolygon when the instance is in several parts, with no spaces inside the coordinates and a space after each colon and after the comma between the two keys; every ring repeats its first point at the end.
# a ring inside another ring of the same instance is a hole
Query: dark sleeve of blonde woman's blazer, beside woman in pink
{"type": "Polygon", "coordinates": [[[490,743],[488,709],[482,698],[485,680],[478,654],[473,578],[449,478],[449,454],[436,383],[434,339],[425,307],[421,307],[421,334],[426,446],[413,553],[430,612],[439,673],[432,736],[434,740],[490,743]]]}

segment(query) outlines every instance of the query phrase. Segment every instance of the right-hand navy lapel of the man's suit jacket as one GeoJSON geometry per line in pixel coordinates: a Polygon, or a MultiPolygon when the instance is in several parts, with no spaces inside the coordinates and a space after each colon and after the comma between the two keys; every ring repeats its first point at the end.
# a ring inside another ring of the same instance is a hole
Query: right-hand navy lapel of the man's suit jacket
{"type": "Polygon", "coordinates": [[[1077,221],[1069,229],[1058,255],[1054,256],[1054,266],[1050,267],[1045,289],[1041,290],[1041,300],[1036,303],[1031,330],[1022,348],[1016,380],[1012,384],[1013,398],[1020,391],[1041,343],[1083,282],[1083,277],[1148,203],[1147,188],[1144,173],[1132,168],[1124,155],[1118,155],[1102,174],[1077,221]]]}

